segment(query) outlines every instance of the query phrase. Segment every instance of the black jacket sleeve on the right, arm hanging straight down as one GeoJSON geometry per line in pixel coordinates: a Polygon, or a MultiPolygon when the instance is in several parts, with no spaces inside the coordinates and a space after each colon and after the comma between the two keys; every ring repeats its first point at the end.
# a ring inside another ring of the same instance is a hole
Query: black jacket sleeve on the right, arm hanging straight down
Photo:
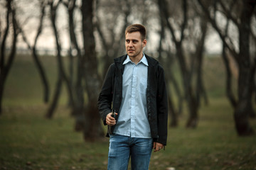
{"type": "Polygon", "coordinates": [[[168,129],[168,99],[166,82],[164,79],[164,69],[159,65],[159,79],[158,79],[158,94],[157,94],[157,126],[159,139],[157,142],[166,145],[167,129],[168,129]]]}

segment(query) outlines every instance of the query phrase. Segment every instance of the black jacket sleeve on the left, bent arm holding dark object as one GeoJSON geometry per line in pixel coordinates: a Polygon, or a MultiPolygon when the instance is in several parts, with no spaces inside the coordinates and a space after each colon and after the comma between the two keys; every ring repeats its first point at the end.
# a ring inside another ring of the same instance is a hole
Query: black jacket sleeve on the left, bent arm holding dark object
{"type": "Polygon", "coordinates": [[[114,81],[114,63],[110,65],[105,76],[102,90],[98,98],[98,109],[104,125],[106,123],[107,114],[111,112],[112,96],[113,96],[113,81],[114,81]]]}

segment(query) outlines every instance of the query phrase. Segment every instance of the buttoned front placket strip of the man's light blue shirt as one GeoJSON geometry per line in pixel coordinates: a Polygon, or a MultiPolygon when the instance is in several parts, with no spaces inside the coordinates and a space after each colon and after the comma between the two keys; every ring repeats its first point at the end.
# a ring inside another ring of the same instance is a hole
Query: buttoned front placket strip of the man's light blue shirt
{"type": "Polygon", "coordinates": [[[137,94],[137,65],[132,69],[132,98],[131,98],[131,137],[135,136],[135,105],[137,94]]]}

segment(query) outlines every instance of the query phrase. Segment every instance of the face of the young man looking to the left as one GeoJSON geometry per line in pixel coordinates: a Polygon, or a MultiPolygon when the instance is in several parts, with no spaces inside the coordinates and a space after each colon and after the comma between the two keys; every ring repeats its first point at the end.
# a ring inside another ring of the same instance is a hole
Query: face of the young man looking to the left
{"type": "Polygon", "coordinates": [[[142,57],[143,47],[146,46],[146,39],[142,41],[139,31],[125,35],[125,49],[129,57],[142,57]]]}

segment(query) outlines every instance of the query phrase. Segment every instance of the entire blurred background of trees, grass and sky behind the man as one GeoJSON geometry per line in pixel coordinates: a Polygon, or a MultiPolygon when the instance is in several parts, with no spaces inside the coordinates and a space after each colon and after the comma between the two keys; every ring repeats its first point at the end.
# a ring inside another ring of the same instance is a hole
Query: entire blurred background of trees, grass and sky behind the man
{"type": "Polygon", "coordinates": [[[105,169],[97,98],[133,23],[164,67],[176,148],[151,169],[256,169],[255,0],[1,0],[0,169],[105,169]]]}

